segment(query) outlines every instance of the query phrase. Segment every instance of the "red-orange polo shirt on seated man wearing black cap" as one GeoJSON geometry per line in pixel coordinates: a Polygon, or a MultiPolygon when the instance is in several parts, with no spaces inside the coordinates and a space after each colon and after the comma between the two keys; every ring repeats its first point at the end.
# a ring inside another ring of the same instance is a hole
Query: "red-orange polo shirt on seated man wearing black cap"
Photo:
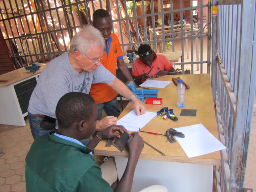
{"type": "Polygon", "coordinates": [[[147,66],[146,64],[144,64],[142,62],[142,60],[140,60],[140,58],[137,58],[132,65],[132,75],[133,76],[138,77],[144,73],[148,74],[149,71],[150,71],[150,73],[148,75],[153,76],[153,75],[157,74],[160,70],[169,71],[172,68],[172,64],[166,58],[166,56],[161,55],[161,54],[156,54],[155,52],[153,52],[153,54],[155,56],[155,60],[153,61],[151,68],[153,66],[154,66],[154,68],[150,71],[151,68],[149,66],[147,66]]]}

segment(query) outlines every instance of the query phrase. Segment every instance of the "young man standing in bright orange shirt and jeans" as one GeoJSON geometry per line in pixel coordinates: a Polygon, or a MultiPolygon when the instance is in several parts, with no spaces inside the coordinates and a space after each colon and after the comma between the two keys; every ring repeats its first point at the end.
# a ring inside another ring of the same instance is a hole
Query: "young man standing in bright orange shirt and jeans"
{"type": "MultiPolygon", "coordinates": [[[[123,52],[120,46],[118,37],[112,33],[112,20],[110,14],[104,9],[96,10],[92,15],[92,24],[100,30],[106,42],[104,48],[104,58],[101,60],[102,65],[116,76],[116,66],[121,71],[127,81],[132,81],[132,75],[124,63],[123,52]]],[[[117,102],[117,92],[110,86],[103,83],[92,84],[90,95],[94,98],[98,106],[98,120],[101,119],[102,110],[111,118],[112,121],[117,121],[120,114],[117,102]]]]}

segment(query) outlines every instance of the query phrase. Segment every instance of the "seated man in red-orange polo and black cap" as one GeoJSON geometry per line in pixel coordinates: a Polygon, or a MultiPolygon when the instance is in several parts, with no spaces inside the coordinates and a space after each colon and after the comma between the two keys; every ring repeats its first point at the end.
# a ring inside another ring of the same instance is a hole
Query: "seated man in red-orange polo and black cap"
{"type": "Polygon", "coordinates": [[[132,76],[137,85],[142,84],[147,78],[177,74],[166,56],[156,54],[147,44],[138,48],[138,55],[139,58],[132,65],[132,76]]]}

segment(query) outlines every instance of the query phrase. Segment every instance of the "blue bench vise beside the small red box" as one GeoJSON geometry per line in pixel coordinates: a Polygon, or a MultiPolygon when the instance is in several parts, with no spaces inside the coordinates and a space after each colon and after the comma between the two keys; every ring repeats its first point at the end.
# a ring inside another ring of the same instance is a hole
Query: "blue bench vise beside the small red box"
{"type": "Polygon", "coordinates": [[[149,88],[136,88],[135,84],[132,81],[127,81],[126,86],[137,95],[137,97],[143,102],[145,98],[155,97],[157,98],[158,89],[149,89],[149,88]]]}

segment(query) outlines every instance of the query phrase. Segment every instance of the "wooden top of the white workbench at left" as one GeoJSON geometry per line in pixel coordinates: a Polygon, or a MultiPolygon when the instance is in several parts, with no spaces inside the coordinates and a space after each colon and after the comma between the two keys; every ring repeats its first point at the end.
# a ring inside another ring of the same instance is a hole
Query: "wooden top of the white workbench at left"
{"type": "Polygon", "coordinates": [[[5,74],[0,75],[0,86],[8,86],[12,83],[18,82],[30,76],[40,73],[47,63],[39,63],[41,66],[36,72],[27,71],[25,68],[20,68],[5,74]]]}

